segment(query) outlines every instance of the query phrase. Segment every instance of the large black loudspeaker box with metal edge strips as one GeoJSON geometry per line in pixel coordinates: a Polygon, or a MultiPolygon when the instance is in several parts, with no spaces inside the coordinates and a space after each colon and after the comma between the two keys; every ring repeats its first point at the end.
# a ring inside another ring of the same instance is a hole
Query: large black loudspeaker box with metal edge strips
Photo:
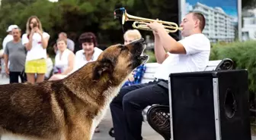
{"type": "Polygon", "coordinates": [[[247,70],[169,75],[171,140],[251,140],[247,70]]]}

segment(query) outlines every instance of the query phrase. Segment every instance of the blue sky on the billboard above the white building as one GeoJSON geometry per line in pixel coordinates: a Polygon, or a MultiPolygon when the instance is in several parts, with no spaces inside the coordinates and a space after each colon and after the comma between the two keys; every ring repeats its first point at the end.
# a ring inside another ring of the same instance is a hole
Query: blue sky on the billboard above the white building
{"type": "Polygon", "coordinates": [[[229,14],[232,17],[238,16],[237,0],[186,0],[186,3],[189,3],[189,5],[195,5],[197,2],[213,8],[220,7],[226,14],[229,14]]]}

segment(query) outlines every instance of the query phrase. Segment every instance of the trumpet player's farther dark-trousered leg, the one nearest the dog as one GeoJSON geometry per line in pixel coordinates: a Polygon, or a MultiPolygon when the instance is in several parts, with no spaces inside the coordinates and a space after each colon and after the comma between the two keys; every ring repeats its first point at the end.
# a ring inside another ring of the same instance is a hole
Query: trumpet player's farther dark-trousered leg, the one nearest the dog
{"type": "Polygon", "coordinates": [[[149,82],[145,84],[138,84],[138,85],[123,87],[122,89],[120,89],[120,92],[113,99],[113,101],[111,101],[110,111],[111,111],[113,126],[114,126],[114,137],[116,140],[126,139],[126,134],[125,134],[126,119],[123,114],[123,96],[133,90],[140,89],[145,86],[149,86],[153,83],[154,82],[149,82]]]}

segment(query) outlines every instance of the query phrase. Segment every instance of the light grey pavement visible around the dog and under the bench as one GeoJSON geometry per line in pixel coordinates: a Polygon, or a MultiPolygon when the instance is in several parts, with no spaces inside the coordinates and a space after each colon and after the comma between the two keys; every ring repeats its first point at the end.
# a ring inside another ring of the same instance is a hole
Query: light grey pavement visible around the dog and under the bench
{"type": "MultiPolygon", "coordinates": [[[[7,83],[8,83],[8,79],[0,78],[0,85],[7,84],[7,83]]],[[[112,127],[112,120],[111,120],[110,111],[108,110],[106,116],[104,117],[104,119],[101,121],[101,123],[99,125],[99,129],[101,130],[101,132],[95,133],[92,140],[114,140],[114,138],[112,138],[112,137],[110,137],[110,135],[108,135],[108,131],[109,131],[110,127],[112,127]]],[[[149,126],[148,123],[142,124],[142,136],[146,140],[156,140],[156,139],[164,140],[164,138],[162,138],[162,136],[158,135],[158,133],[155,132],[149,126]]],[[[1,140],[14,140],[14,139],[2,138],[1,140]]],[[[17,140],[17,139],[15,139],[15,140],[17,140]]],[[[251,140],[256,140],[256,137],[252,136],[251,140]]]]}

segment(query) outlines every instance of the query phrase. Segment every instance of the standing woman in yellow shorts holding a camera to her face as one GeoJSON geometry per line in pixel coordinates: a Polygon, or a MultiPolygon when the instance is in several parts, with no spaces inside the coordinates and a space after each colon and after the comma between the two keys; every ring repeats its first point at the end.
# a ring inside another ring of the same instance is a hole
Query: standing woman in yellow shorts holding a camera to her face
{"type": "Polygon", "coordinates": [[[36,16],[27,20],[27,31],[22,35],[22,44],[27,49],[25,73],[27,82],[43,82],[46,73],[46,48],[50,35],[43,32],[42,24],[36,16]],[[35,79],[37,74],[37,79],[35,79]]]}

